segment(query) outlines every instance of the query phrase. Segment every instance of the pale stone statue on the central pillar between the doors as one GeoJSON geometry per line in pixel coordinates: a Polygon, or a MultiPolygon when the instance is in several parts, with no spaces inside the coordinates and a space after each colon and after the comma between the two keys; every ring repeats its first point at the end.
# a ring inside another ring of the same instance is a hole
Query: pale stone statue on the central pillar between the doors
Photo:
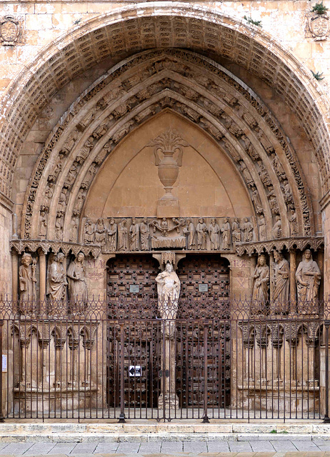
{"type": "Polygon", "coordinates": [[[162,319],[175,319],[178,312],[180,280],[171,263],[156,276],[158,309],[162,319]]]}

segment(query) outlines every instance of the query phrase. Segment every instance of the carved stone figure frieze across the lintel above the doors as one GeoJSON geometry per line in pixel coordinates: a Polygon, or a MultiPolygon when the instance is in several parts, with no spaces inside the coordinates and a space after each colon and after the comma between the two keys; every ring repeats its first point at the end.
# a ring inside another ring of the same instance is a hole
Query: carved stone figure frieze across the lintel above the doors
{"type": "Polygon", "coordinates": [[[154,219],[111,218],[96,223],[86,219],[82,241],[100,244],[103,252],[149,251],[157,248],[187,248],[218,251],[230,250],[233,243],[254,241],[254,225],[249,218],[232,221],[216,218],[154,219]],[[196,219],[196,226],[194,224],[196,219]]]}

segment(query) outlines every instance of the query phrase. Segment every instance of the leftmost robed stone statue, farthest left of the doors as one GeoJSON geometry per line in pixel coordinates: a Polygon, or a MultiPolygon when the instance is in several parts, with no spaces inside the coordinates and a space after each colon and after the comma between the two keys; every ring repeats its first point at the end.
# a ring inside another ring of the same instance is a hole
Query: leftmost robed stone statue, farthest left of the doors
{"type": "Polygon", "coordinates": [[[26,252],[19,267],[19,291],[21,311],[32,311],[32,305],[36,301],[36,259],[26,252]]]}

